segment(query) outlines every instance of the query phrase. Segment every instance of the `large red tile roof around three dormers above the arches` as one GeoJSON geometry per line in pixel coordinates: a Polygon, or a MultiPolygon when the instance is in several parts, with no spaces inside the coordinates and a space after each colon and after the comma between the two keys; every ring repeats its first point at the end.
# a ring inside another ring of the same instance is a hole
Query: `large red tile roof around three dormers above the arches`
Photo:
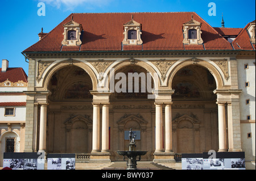
{"type": "Polygon", "coordinates": [[[195,12],[77,13],[73,20],[84,30],[80,46],[61,45],[63,24],[72,14],[23,52],[121,51],[121,50],[232,50],[231,44],[195,12]],[[183,44],[183,23],[201,23],[203,45],[183,44]],[[142,24],[142,45],[123,45],[123,24],[131,20],[142,24]]]}

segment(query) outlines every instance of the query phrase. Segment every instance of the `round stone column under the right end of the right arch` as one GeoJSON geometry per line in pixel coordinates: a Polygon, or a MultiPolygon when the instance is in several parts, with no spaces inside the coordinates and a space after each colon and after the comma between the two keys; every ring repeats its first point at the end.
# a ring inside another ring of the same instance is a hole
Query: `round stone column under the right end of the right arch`
{"type": "Polygon", "coordinates": [[[226,148],[226,127],[225,127],[225,103],[218,104],[218,151],[227,151],[226,148]]]}

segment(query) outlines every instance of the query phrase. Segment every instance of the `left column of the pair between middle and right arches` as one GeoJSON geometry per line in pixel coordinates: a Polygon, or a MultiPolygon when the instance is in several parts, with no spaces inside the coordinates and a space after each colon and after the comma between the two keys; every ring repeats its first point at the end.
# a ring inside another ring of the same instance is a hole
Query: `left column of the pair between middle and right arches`
{"type": "Polygon", "coordinates": [[[162,105],[155,103],[155,152],[163,152],[163,112],[162,105]]]}

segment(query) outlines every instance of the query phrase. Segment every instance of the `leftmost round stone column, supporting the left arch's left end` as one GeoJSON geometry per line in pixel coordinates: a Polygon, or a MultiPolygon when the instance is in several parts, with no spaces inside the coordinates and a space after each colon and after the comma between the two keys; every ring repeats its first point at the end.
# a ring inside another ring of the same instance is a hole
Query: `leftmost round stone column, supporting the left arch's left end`
{"type": "Polygon", "coordinates": [[[47,104],[40,108],[39,151],[46,151],[47,104]]]}

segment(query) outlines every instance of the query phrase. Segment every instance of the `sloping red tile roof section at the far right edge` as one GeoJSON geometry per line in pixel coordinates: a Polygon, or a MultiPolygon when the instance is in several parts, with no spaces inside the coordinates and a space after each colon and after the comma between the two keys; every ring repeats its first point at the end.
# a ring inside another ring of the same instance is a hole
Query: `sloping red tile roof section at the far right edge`
{"type": "MultiPolygon", "coordinates": [[[[255,20],[253,22],[255,22],[255,20]]],[[[250,23],[253,23],[253,22],[250,22],[250,23]]],[[[245,28],[243,28],[243,30],[240,32],[240,34],[232,42],[234,49],[255,50],[255,44],[251,43],[249,34],[247,32],[247,28],[250,26],[250,23],[248,23],[245,26],[245,28]]]]}

